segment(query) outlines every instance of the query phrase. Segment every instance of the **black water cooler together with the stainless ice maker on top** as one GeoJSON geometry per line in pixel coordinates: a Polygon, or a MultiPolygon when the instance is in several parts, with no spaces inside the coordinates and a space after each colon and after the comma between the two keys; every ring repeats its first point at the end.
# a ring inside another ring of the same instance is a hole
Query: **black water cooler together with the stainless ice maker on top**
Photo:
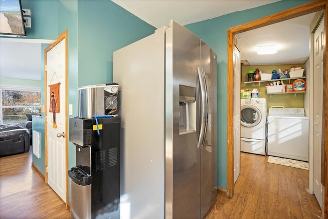
{"type": "Polygon", "coordinates": [[[118,84],[80,87],[78,116],[70,118],[75,145],[71,179],[71,218],[120,217],[120,118],[118,84]]]}

